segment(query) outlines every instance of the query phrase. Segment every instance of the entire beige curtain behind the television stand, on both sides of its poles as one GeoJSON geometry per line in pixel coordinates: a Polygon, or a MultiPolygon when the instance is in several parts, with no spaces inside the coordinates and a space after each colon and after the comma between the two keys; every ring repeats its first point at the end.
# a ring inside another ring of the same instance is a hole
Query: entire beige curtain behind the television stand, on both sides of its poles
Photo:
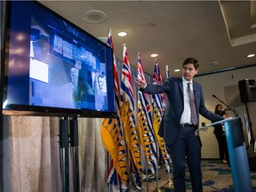
{"type": "MultiPolygon", "coordinates": [[[[107,191],[101,119],[79,118],[80,191],[107,191]]],[[[1,135],[1,191],[62,191],[59,117],[4,116],[1,135]]],[[[73,191],[69,160],[69,191],[73,191]]]]}

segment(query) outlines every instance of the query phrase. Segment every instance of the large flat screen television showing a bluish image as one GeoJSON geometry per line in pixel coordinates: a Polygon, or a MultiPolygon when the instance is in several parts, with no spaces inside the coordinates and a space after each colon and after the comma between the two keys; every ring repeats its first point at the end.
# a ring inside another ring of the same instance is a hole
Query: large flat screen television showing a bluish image
{"type": "Polygon", "coordinates": [[[36,1],[6,1],[2,113],[116,116],[113,51],[36,1]]]}

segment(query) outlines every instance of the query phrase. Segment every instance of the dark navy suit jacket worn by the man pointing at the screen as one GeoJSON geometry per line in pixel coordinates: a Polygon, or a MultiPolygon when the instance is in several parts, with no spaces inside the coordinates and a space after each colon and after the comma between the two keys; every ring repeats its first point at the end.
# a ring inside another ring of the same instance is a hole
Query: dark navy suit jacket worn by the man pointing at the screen
{"type": "MultiPolygon", "coordinates": [[[[164,138],[166,144],[172,145],[180,132],[180,118],[184,110],[182,78],[168,78],[163,84],[159,85],[148,84],[147,87],[141,91],[147,92],[148,94],[166,92],[168,103],[164,111],[164,118],[162,119],[158,134],[164,138]]],[[[195,81],[193,81],[193,92],[195,96],[196,115],[198,121],[199,114],[212,122],[224,119],[222,116],[218,116],[204,107],[202,87],[195,81]]]]}

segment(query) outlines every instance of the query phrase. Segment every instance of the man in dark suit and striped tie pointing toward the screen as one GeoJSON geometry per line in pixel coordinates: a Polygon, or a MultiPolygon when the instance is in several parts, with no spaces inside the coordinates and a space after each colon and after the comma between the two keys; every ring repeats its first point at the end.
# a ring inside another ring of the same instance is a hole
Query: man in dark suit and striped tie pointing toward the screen
{"type": "Polygon", "coordinates": [[[222,116],[213,114],[204,106],[202,87],[193,81],[198,67],[196,59],[188,58],[183,62],[181,78],[167,78],[163,84],[147,84],[142,79],[136,79],[140,91],[148,94],[166,92],[168,97],[158,134],[170,149],[175,192],[186,191],[186,157],[193,192],[203,191],[200,166],[202,145],[199,136],[195,135],[199,114],[212,122],[223,120],[222,116]]]}

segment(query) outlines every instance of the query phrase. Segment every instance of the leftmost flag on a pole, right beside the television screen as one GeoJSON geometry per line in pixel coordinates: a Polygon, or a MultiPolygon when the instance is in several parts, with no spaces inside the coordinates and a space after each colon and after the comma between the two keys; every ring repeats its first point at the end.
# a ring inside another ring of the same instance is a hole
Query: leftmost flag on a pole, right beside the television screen
{"type": "Polygon", "coordinates": [[[116,118],[105,118],[101,125],[101,140],[104,147],[111,156],[111,163],[108,168],[108,183],[124,186],[129,185],[129,175],[127,168],[127,154],[125,149],[124,131],[122,130],[120,120],[120,93],[118,76],[116,70],[116,57],[114,53],[114,44],[111,36],[111,29],[108,33],[108,45],[113,49],[113,67],[115,81],[115,98],[116,98],[116,118]]]}

